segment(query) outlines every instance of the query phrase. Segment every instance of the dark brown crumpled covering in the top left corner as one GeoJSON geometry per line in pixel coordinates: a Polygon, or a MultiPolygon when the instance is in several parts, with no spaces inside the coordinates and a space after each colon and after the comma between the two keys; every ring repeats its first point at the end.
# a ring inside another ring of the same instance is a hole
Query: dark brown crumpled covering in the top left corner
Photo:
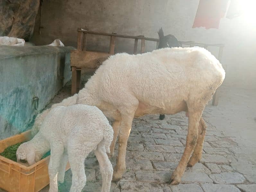
{"type": "Polygon", "coordinates": [[[33,33],[40,0],[1,0],[0,36],[28,41],[33,33]]]}

